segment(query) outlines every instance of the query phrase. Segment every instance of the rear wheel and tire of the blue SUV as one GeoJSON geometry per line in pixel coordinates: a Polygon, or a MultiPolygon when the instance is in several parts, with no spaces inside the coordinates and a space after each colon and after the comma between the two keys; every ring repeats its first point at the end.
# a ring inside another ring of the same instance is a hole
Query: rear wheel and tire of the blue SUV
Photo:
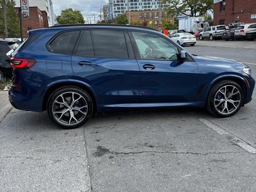
{"type": "Polygon", "coordinates": [[[64,129],[74,129],[85,124],[93,112],[93,102],[88,93],[76,86],[64,86],[51,94],[47,112],[52,122],[64,129]]]}

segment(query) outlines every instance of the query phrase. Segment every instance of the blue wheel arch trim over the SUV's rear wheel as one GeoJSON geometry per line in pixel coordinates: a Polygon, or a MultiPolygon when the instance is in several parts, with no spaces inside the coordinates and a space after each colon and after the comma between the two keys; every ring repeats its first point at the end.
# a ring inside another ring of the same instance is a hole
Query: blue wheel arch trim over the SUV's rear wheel
{"type": "Polygon", "coordinates": [[[92,86],[81,81],[59,81],[47,85],[47,90],[44,93],[44,99],[42,103],[42,111],[47,109],[47,101],[54,90],[61,88],[62,86],[77,86],[87,92],[92,98],[93,113],[97,113],[97,94],[93,90],[92,86]]]}

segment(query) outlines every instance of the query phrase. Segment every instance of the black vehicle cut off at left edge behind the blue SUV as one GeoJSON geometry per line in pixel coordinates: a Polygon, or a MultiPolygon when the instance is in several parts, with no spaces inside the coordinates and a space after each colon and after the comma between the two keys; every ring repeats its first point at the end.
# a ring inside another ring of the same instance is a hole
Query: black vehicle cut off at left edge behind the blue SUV
{"type": "Polygon", "coordinates": [[[12,77],[12,66],[10,65],[10,58],[6,55],[9,51],[16,49],[20,42],[12,42],[0,40],[0,82],[4,78],[10,79],[12,77]]]}

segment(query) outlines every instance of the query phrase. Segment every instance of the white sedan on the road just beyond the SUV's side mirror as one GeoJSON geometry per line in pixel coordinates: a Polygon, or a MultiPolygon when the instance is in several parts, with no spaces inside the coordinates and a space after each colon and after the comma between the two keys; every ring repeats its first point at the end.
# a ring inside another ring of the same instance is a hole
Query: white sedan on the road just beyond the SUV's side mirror
{"type": "Polygon", "coordinates": [[[180,45],[194,46],[196,44],[196,37],[190,33],[176,33],[173,35],[172,40],[180,45]]]}

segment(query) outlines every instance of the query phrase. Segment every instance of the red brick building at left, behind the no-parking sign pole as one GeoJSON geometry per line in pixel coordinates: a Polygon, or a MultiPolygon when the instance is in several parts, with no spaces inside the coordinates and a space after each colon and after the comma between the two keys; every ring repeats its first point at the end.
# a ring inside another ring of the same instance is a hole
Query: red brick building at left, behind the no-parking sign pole
{"type": "MultiPolygon", "coordinates": [[[[19,12],[19,8],[15,8],[19,12]]],[[[45,11],[41,11],[38,7],[29,7],[29,17],[23,17],[23,36],[28,38],[28,31],[31,29],[48,28],[48,17],[45,11]]]]}

